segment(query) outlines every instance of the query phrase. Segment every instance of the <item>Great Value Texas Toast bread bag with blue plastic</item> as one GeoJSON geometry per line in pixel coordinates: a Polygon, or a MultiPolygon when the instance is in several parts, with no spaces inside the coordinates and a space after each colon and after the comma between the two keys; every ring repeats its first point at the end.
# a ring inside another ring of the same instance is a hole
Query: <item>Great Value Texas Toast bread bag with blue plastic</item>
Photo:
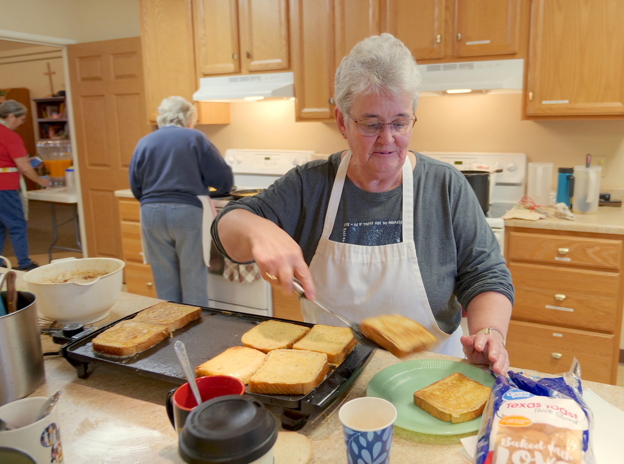
{"type": "Polygon", "coordinates": [[[492,387],[475,464],[596,464],[577,360],[562,377],[508,375],[492,387]]]}

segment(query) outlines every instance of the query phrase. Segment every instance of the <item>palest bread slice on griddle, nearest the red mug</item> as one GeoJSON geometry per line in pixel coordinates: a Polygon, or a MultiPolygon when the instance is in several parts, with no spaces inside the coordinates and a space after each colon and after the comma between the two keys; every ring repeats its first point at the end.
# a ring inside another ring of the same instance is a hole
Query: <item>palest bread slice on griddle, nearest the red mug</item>
{"type": "Polygon", "coordinates": [[[198,365],[195,375],[230,375],[241,382],[249,383],[249,378],[265,362],[263,352],[248,347],[231,347],[214,358],[198,365]]]}

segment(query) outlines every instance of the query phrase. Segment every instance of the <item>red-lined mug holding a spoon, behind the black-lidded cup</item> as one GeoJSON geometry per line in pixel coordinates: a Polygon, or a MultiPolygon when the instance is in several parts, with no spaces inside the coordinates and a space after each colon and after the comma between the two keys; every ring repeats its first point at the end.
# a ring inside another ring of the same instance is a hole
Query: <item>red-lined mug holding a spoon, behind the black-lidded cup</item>
{"type": "MultiPolygon", "coordinates": [[[[243,395],[245,393],[245,384],[238,378],[229,375],[208,375],[207,377],[196,378],[195,382],[197,382],[202,402],[225,395],[243,395]]],[[[176,432],[180,433],[188,414],[197,407],[197,402],[188,382],[167,393],[165,406],[171,424],[176,432]]]]}

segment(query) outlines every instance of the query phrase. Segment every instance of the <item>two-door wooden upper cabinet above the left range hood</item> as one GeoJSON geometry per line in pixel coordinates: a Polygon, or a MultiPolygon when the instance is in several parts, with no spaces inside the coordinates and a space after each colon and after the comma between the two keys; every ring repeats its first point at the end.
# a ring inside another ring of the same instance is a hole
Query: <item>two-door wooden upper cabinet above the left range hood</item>
{"type": "Polygon", "coordinates": [[[200,77],[288,69],[287,0],[193,0],[200,77]]]}

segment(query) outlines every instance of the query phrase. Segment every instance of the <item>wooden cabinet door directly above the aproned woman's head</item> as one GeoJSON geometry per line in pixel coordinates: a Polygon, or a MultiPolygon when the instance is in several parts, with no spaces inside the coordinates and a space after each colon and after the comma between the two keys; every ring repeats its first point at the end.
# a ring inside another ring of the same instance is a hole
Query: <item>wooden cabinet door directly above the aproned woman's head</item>
{"type": "Polygon", "coordinates": [[[382,29],[417,60],[444,57],[444,0],[382,0],[382,29]]]}

